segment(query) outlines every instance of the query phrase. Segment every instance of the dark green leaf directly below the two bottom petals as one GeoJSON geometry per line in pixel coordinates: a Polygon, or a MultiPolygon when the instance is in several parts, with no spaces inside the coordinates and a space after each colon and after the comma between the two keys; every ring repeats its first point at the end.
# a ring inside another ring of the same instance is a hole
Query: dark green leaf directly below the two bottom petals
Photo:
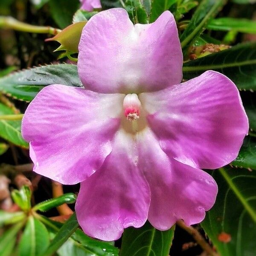
{"type": "Polygon", "coordinates": [[[119,256],[168,256],[174,230],[156,230],[148,221],[141,228],[129,227],[123,234],[119,256]]]}

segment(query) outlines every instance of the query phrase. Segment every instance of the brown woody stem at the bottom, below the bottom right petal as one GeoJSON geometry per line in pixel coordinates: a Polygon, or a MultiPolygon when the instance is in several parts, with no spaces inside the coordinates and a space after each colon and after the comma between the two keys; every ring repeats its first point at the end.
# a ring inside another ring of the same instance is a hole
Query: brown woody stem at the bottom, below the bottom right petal
{"type": "Polygon", "coordinates": [[[212,250],[212,247],[205,241],[203,236],[192,226],[186,226],[183,220],[177,221],[177,225],[179,225],[183,230],[186,230],[187,233],[189,233],[195,241],[201,246],[203,250],[205,250],[209,255],[211,256],[219,256],[218,253],[216,253],[214,250],[212,250]]]}

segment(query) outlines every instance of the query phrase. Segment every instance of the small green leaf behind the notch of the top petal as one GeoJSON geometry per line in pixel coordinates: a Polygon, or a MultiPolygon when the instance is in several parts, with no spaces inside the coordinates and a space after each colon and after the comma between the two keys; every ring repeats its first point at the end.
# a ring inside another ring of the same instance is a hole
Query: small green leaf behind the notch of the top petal
{"type": "Polygon", "coordinates": [[[140,0],[126,0],[125,9],[129,14],[131,21],[140,24],[148,23],[148,16],[145,7],[140,0]]]}

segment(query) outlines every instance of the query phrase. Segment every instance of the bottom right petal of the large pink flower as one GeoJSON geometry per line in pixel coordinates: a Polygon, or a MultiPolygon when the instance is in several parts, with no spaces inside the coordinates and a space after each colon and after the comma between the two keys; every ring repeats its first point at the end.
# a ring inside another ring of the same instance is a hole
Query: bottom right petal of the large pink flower
{"type": "Polygon", "coordinates": [[[140,136],[139,151],[139,168],[151,191],[150,223],[159,230],[168,230],[179,219],[186,225],[201,222],[218,191],[212,176],[170,159],[149,129],[140,136]]]}

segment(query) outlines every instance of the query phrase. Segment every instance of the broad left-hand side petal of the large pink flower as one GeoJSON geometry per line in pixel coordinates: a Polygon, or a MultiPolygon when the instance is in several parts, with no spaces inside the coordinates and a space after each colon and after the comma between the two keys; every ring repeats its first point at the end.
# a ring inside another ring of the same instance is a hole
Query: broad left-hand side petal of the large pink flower
{"type": "Polygon", "coordinates": [[[63,184],[92,175],[111,152],[123,99],[60,84],[41,90],[22,121],[34,171],[63,184]]]}

